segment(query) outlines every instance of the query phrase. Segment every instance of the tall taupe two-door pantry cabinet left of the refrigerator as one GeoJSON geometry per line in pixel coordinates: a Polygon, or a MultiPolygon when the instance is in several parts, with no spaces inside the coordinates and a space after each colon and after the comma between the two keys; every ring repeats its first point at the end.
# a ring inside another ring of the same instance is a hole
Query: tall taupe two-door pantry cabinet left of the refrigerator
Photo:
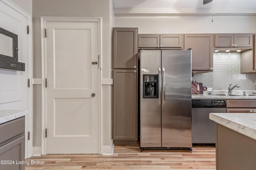
{"type": "Polygon", "coordinates": [[[112,30],[112,138],[115,144],[137,143],[138,28],[112,30]]]}

